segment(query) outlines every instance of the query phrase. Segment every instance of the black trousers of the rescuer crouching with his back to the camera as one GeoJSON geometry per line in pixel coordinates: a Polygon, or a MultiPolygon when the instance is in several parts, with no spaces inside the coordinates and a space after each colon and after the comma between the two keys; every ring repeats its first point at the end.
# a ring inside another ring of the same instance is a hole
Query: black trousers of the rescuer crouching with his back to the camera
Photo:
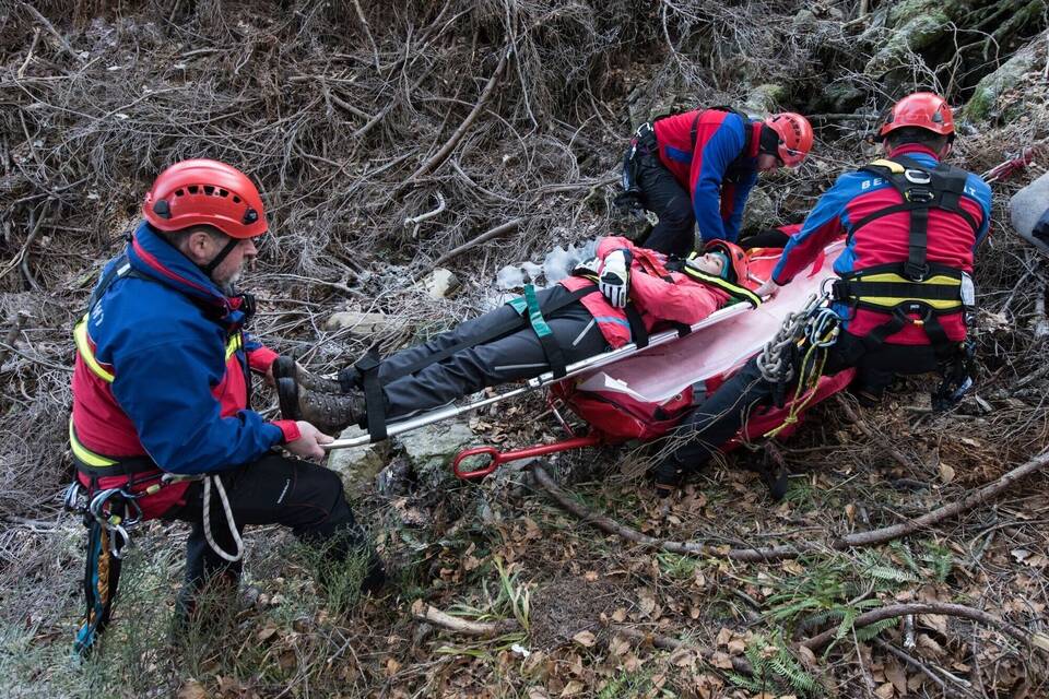
{"type": "MultiPolygon", "coordinates": [[[[823,372],[832,376],[850,367],[857,368],[851,390],[877,398],[897,374],[933,371],[939,359],[928,345],[885,344],[871,352],[859,337],[842,331],[827,354],[823,372]]],[[[762,378],[757,359],[747,362],[674,429],[673,450],[658,465],[657,482],[674,485],[682,474],[705,465],[735,436],[751,411],[771,404],[774,390],[775,386],[762,378]]]]}

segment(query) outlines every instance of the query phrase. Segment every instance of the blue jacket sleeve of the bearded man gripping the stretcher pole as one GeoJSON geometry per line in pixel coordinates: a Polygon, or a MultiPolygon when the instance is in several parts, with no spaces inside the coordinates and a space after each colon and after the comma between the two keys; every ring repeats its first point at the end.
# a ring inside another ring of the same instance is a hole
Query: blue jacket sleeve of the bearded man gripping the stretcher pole
{"type": "Polygon", "coordinates": [[[125,348],[114,355],[113,393],[164,471],[222,471],[254,461],[281,441],[281,429],[254,411],[220,417],[211,387],[225,365],[214,333],[184,324],[156,340],[119,343],[125,348]]]}

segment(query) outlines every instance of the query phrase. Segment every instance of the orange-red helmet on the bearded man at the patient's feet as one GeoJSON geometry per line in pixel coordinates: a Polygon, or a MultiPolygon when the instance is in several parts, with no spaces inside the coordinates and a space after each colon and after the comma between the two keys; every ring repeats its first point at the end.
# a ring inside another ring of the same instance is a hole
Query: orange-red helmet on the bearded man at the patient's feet
{"type": "Polygon", "coordinates": [[[209,225],[243,239],[268,227],[262,198],[248,176],[204,158],[175,163],[161,173],[145,194],[142,214],[151,226],[168,233],[209,225]]]}

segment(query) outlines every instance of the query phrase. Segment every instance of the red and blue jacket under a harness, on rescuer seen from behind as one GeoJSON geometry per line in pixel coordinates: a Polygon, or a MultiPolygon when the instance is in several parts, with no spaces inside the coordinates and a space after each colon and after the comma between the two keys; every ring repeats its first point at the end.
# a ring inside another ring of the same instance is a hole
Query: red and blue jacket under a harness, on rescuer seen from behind
{"type": "MultiPolygon", "coordinates": [[[[928,167],[935,167],[939,159],[922,145],[906,144],[889,154],[907,155],[928,167]]],[[[777,284],[787,284],[795,274],[808,268],[823,248],[835,238],[847,235],[847,246],[834,263],[840,275],[868,268],[907,260],[910,239],[910,214],[896,212],[863,226],[853,234],[853,224],[868,215],[903,202],[900,193],[884,178],[869,171],[846,173],[840,176],[816,202],[801,230],[791,236],[783,248],[779,264],[773,270],[777,284]]],[[[942,209],[929,211],[928,260],[963,272],[973,273],[976,248],[987,236],[991,221],[991,188],[977,175],[969,174],[962,208],[979,222],[974,232],[959,214],[942,209]]],[[[846,304],[836,304],[835,309],[844,319],[844,328],[858,336],[865,336],[888,320],[888,315],[852,309],[846,304]],[[854,312],[853,312],[854,311],[854,312]]],[[[917,316],[911,316],[917,318],[917,316]]],[[[947,337],[965,339],[965,321],[962,312],[940,319],[947,337]]],[[[886,342],[899,345],[926,345],[929,336],[920,325],[908,323],[903,330],[889,335],[886,342]]]]}

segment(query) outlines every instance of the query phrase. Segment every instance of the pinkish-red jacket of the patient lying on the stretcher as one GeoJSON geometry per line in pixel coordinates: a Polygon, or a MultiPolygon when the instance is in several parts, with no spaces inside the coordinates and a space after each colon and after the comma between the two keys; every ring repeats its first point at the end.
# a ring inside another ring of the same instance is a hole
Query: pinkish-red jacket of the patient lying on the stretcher
{"type": "MultiPolygon", "coordinates": [[[[729,295],[712,286],[696,282],[684,274],[668,272],[665,256],[639,248],[626,238],[608,237],[598,242],[598,258],[603,260],[613,250],[629,250],[634,256],[630,264],[630,301],[641,316],[649,331],[660,321],[673,321],[692,325],[699,322],[729,300],[729,295]],[[670,281],[665,281],[669,279],[670,281]]],[[[582,276],[569,276],[561,282],[568,291],[576,291],[593,284],[582,276]]],[[[629,343],[630,324],[626,311],[615,308],[601,294],[594,291],[580,299],[593,319],[604,339],[613,348],[629,343]]]]}

